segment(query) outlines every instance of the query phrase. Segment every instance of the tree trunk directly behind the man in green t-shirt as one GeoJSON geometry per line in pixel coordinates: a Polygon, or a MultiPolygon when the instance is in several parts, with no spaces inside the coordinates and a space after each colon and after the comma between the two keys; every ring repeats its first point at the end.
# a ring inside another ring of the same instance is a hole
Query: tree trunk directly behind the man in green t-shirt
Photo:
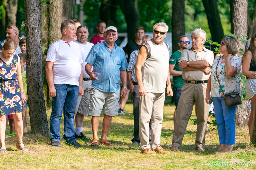
{"type": "Polygon", "coordinates": [[[178,39],[185,35],[185,0],[172,1],[172,52],[179,50],[178,39]]]}

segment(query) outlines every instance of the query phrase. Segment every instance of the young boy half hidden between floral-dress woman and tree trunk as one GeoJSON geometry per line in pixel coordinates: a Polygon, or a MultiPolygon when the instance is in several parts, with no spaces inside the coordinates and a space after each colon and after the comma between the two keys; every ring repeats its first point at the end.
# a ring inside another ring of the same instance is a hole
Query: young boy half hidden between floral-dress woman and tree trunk
{"type": "Polygon", "coordinates": [[[24,93],[27,97],[27,101],[26,103],[24,103],[22,105],[22,120],[23,120],[23,133],[27,133],[27,103],[28,103],[28,95],[27,95],[27,75],[26,75],[26,71],[24,70],[24,66],[26,66],[26,61],[27,61],[27,56],[26,54],[19,54],[18,55],[20,57],[20,71],[21,71],[21,77],[22,77],[22,81],[23,81],[23,89],[24,89],[24,93]]]}

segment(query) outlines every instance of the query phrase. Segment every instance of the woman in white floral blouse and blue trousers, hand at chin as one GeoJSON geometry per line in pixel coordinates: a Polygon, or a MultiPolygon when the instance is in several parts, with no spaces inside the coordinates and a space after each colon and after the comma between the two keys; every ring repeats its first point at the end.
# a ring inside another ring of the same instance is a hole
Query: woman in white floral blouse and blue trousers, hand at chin
{"type": "Polygon", "coordinates": [[[222,39],[220,52],[223,55],[217,56],[212,64],[205,101],[209,104],[211,92],[220,140],[220,148],[217,152],[228,152],[231,150],[231,145],[235,144],[236,106],[226,106],[223,99],[227,93],[240,92],[239,71],[241,70],[241,59],[236,55],[239,52],[237,43],[230,37],[222,39]]]}

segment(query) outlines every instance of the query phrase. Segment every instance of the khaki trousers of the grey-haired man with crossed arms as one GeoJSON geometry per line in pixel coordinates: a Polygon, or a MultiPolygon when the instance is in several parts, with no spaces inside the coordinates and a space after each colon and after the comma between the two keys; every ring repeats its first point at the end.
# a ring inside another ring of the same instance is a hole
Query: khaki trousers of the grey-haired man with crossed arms
{"type": "Polygon", "coordinates": [[[204,148],[206,125],[209,115],[209,107],[205,102],[206,87],[207,83],[183,83],[173,130],[172,146],[181,147],[187,123],[191,117],[195,103],[195,114],[198,122],[195,145],[197,148],[204,148]]]}

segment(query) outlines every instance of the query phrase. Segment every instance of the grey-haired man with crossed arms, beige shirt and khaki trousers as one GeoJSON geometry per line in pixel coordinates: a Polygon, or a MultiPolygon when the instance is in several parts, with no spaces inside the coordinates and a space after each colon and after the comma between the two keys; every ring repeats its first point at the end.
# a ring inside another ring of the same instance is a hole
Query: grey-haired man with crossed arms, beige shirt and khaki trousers
{"type": "Polygon", "coordinates": [[[198,121],[195,146],[197,152],[203,152],[205,151],[205,132],[209,115],[209,107],[204,98],[214,56],[212,51],[203,46],[206,40],[204,30],[201,28],[193,30],[191,40],[192,48],[182,51],[179,62],[179,68],[183,69],[182,78],[184,82],[177,107],[171,150],[175,151],[181,147],[195,103],[195,114],[198,121]]]}

